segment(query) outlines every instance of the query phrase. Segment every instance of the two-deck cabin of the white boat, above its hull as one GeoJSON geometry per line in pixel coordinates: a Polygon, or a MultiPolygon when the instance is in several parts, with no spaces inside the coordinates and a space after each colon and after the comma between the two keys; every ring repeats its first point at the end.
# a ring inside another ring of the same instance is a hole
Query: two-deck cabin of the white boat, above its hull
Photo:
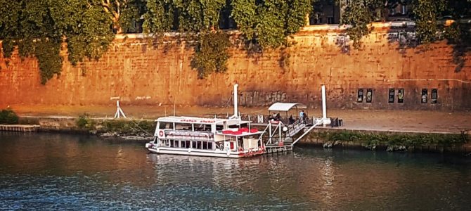
{"type": "Polygon", "coordinates": [[[156,120],[157,148],[197,151],[249,153],[263,148],[263,132],[251,128],[250,122],[235,119],[201,117],[160,117],[156,120]]]}

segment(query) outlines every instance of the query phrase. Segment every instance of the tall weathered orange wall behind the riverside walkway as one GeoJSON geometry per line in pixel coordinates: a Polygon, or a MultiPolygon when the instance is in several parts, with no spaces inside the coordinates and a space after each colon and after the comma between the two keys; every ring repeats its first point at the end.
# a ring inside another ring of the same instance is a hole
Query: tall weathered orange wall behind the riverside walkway
{"type": "MultiPolygon", "coordinates": [[[[183,44],[150,45],[142,34],[117,37],[99,60],[73,67],[65,58],[60,77],[40,83],[35,58],[0,56],[0,106],[127,105],[226,106],[233,84],[239,84],[243,106],[266,106],[276,101],[321,105],[325,84],[328,106],[335,108],[469,110],[471,108],[471,53],[455,72],[453,46],[445,42],[399,48],[387,30],[364,37],[362,49],[342,45],[344,35],[329,27],[306,27],[292,39],[288,66],[280,67],[280,51],[248,55],[230,49],[228,70],[198,79],[191,68],[193,50],[183,44]],[[388,103],[390,88],[404,88],[404,103],[388,103]],[[356,101],[358,89],[373,90],[371,103],[356,101]],[[427,89],[427,103],[420,103],[427,89]],[[438,89],[436,104],[430,103],[438,89]]],[[[66,57],[65,50],[63,55],[66,57]]]]}

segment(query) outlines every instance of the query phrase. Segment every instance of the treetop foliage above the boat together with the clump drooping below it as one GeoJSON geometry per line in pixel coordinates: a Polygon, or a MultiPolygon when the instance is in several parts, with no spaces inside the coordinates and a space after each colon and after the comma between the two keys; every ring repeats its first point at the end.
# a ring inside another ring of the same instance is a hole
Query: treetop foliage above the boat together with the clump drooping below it
{"type": "Polygon", "coordinates": [[[149,0],[143,29],[155,36],[177,30],[186,34],[186,39],[196,39],[192,65],[198,70],[198,77],[224,72],[231,42],[217,27],[219,13],[225,4],[226,0],[149,0]]]}

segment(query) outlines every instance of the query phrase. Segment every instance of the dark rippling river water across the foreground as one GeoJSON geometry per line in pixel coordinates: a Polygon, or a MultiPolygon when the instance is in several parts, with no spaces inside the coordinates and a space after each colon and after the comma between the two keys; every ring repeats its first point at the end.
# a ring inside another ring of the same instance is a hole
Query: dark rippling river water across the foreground
{"type": "Polygon", "coordinates": [[[0,210],[469,210],[471,159],[325,150],[248,159],[0,133],[0,210]]]}

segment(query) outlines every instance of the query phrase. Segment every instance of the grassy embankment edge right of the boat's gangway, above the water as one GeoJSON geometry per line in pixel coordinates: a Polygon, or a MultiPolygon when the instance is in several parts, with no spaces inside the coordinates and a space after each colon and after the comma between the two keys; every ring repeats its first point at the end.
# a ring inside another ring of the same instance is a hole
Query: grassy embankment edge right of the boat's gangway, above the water
{"type": "Polygon", "coordinates": [[[319,127],[299,145],[324,148],[368,148],[387,151],[426,151],[471,153],[471,134],[467,132],[416,132],[400,130],[319,127]]]}

